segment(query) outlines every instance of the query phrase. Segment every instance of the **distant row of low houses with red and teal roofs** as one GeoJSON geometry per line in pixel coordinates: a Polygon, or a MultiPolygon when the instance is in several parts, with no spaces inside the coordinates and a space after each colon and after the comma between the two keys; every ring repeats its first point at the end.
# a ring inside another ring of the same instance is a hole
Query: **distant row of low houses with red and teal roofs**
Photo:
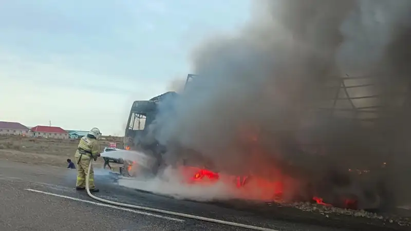
{"type": "MultiPolygon", "coordinates": [[[[20,135],[27,137],[43,137],[54,139],[79,139],[86,136],[88,131],[65,130],[54,126],[27,127],[18,122],[0,121],[0,135],[20,135]]],[[[101,139],[105,139],[102,137],[101,139]]]]}

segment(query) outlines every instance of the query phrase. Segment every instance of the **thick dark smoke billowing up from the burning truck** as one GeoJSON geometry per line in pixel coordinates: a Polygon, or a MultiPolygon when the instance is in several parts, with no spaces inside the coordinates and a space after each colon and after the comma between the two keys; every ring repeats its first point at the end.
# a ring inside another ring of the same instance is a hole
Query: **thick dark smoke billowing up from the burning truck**
{"type": "Polygon", "coordinates": [[[153,124],[167,161],[267,178],[279,169],[325,198],[410,199],[411,1],[253,2],[241,31],[195,50],[202,77],[153,124]],[[333,101],[347,94],[379,97],[333,101]]]}

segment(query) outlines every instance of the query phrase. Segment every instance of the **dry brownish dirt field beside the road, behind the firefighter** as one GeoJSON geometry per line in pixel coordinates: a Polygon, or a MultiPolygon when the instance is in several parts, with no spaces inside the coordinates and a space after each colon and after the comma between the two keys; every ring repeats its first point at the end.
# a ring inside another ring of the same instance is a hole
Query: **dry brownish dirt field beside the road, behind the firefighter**
{"type": "MultiPolygon", "coordinates": [[[[100,151],[109,145],[109,141],[101,140],[99,143],[100,151]]],[[[71,139],[0,136],[0,159],[34,165],[67,167],[66,160],[74,160],[78,144],[79,140],[71,139]]],[[[122,145],[117,142],[117,147],[122,147],[122,145]]],[[[99,158],[95,167],[102,167],[103,163],[103,160],[99,158]]],[[[116,166],[111,163],[110,165],[116,166]]]]}

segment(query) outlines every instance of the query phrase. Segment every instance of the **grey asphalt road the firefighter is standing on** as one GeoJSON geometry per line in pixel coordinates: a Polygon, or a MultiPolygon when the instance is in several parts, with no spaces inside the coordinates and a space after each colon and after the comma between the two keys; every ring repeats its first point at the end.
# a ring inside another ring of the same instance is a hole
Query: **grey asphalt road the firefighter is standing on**
{"type": "MultiPolygon", "coordinates": [[[[86,192],[74,190],[75,181],[76,170],[0,161],[0,230],[250,230],[110,206],[88,197],[86,192]]],[[[284,231],[354,230],[353,227],[342,229],[325,227],[321,222],[293,222],[215,204],[157,196],[120,187],[116,179],[109,176],[96,174],[96,185],[101,190],[96,196],[103,199],[221,221],[284,231]]],[[[370,230],[376,229],[371,227],[370,230]]]]}

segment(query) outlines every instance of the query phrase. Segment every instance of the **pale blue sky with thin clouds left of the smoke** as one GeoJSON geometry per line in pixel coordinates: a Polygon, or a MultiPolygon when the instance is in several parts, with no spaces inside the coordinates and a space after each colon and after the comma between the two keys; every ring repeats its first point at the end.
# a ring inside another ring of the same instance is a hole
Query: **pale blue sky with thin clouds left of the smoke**
{"type": "Polygon", "coordinates": [[[0,1],[0,121],[123,136],[132,102],[191,72],[191,50],[250,0],[0,1]]]}

